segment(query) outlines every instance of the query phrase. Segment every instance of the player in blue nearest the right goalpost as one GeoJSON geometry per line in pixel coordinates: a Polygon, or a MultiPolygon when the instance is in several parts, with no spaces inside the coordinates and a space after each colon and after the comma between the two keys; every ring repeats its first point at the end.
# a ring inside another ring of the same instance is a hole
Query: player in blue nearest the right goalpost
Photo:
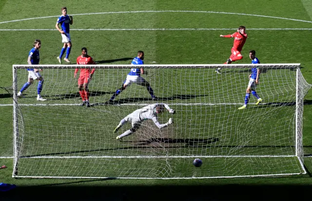
{"type": "MultiPolygon", "coordinates": [[[[252,64],[260,64],[260,61],[258,58],[255,57],[255,51],[251,50],[249,52],[249,58],[252,60],[252,64]]],[[[246,96],[245,96],[245,103],[243,106],[239,107],[238,109],[245,109],[247,107],[249,97],[250,97],[250,92],[254,95],[254,97],[257,99],[257,102],[255,105],[258,105],[262,99],[259,97],[257,92],[255,91],[255,84],[259,83],[259,74],[260,74],[260,69],[259,68],[252,68],[252,74],[249,75],[249,83],[248,87],[246,90],[246,96]]]]}

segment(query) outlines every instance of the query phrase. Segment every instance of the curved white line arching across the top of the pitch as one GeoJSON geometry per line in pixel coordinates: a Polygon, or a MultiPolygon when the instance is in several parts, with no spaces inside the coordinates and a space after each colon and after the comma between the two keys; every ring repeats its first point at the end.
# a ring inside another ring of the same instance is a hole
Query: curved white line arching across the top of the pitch
{"type": "MultiPolygon", "coordinates": [[[[312,21],[307,21],[307,20],[296,20],[296,19],[291,19],[291,18],[281,18],[281,17],[273,17],[273,16],[265,16],[265,15],[253,15],[253,14],[245,14],[245,13],[227,13],[227,12],[215,12],[215,11],[181,11],[181,10],[81,13],[81,14],[72,14],[71,16],[100,15],[100,14],[119,14],[119,13],[213,13],[213,14],[254,16],[254,17],[262,17],[262,18],[273,18],[273,19],[280,19],[280,20],[292,20],[292,21],[302,21],[302,22],[312,23],[312,21]]],[[[36,19],[57,18],[57,17],[59,17],[59,16],[46,16],[46,17],[38,17],[38,18],[26,18],[26,19],[20,19],[20,20],[1,21],[0,24],[9,23],[9,22],[24,21],[24,20],[36,20],[36,19]]]]}

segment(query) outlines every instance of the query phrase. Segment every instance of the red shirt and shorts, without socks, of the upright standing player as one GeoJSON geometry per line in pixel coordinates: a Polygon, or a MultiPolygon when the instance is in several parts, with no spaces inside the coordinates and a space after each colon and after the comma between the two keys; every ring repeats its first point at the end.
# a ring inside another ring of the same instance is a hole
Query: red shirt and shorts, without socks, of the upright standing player
{"type": "MultiPolygon", "coordinates": [[[[87,55],[86,57],[82,57],[81,55],[77,58],[77,64],[78,65],[92,65],[95,64],[92,57],[87,55]]],[[[75,74],[78,72],[78,68],[75,69],[75,74]]],[[[78,79],[78,85],[88,83],[90,80],[90,71],[91,69],[88,68],[81,68],[80,69],[80,75],[78,79]]],[[[94,74],[95,69],[92,69],[91,74],[94,74]]]]}

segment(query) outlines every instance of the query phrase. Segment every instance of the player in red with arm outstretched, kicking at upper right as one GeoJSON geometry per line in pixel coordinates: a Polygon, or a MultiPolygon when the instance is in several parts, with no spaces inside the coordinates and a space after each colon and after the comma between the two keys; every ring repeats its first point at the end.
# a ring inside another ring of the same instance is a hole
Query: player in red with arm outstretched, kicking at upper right
{"type": "MultiPolygon", "coordinates": [[[[243,56],[241,55],[241,51],[243,49],[243,46],[246,42],[247,39],[247,34],[245,33],[246,27],[245,26],[240,26],[237,29],[237,32],[235,32],[232,35],[220,35],[220,37],[224,38],[234,38],[234,44],[231,49],[232,55],[231,57],[223,64],[230,64],[235,60],[241,60],[243,59],[243,56]]],[[[216,72],[219,74],[221,68],[218,68],[216,72]]]]}

